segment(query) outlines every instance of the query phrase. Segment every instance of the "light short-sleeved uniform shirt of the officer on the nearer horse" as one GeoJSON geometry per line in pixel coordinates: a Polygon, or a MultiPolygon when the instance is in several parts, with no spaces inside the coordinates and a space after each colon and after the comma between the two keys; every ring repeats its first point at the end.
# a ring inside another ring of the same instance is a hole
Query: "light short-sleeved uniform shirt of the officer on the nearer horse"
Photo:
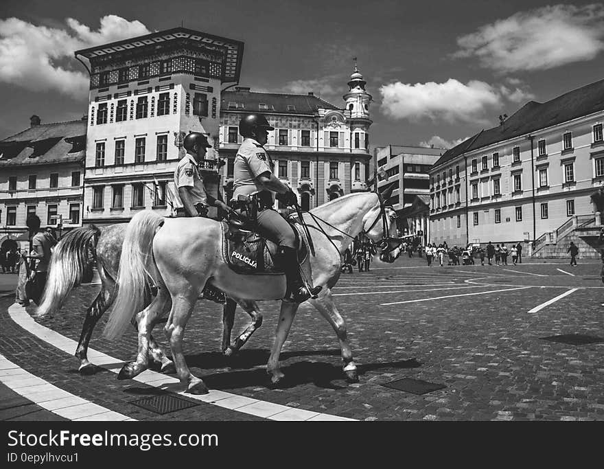
{"type": "Polygon", "coordinates": [[[236,201],[237,196],[251,194],[257,190],[266,191],[256,179],[264,172],[272,173],[272,159],[255,139],[244,139],[235,157],[232,200],[236,201]]]}

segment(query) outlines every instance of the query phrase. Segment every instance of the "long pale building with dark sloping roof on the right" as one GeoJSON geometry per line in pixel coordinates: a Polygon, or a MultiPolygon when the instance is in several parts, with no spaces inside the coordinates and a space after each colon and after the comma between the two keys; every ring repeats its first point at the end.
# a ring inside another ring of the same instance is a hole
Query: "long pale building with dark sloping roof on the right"
{"type": "Polygon", "coordinates": [[[594,223],[590,194],[604,181],[603,123],[600,80],[531,101],[445,152],[430,170],[432,240],[526,240],[538,248],[546,244],[539,240],[556,242],[552,233],[594,223]]]}

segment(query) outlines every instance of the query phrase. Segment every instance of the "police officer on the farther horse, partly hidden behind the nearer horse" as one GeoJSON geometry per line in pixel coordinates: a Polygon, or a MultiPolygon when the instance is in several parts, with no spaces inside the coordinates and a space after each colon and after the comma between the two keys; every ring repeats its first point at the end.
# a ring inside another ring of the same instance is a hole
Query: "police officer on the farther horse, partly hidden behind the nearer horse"
{"type": "Polygon", "coordinates": [[[207,148],[211,145],[202,133],[191,132],[185,137],[183,146],[187,150],[174,170],[174,184],[183,207],[176,209],[176,216],[207,216],[207,207],[220,207],[225,211],[231,209],[222,201],[207,193],[198,164],[205,158],[207,148]]]}

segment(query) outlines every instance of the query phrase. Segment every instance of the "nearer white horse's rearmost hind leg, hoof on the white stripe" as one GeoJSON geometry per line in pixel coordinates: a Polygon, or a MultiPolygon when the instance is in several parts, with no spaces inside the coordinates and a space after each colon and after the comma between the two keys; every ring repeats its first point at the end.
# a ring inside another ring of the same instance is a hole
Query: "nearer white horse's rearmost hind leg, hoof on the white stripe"
{"type": "MultiPolygon", "coordinates": [[[[126,363],[117,379],[126,380],[134,378],[149,367],[149,356],[152,353],[150,344],[151,330],[153,329],[156,318],[165,311],[166,304],[170,301],[170,296],[164,288],[160,288],[157,296],[151,304],[137,314],[137,330],[139,335],[139,352],[135,361],[126,363]]],[[[157,345],[155,344],[157,347],[157,345]]],[[[163,352],[162,352],[163,354],[163,352]]]]}

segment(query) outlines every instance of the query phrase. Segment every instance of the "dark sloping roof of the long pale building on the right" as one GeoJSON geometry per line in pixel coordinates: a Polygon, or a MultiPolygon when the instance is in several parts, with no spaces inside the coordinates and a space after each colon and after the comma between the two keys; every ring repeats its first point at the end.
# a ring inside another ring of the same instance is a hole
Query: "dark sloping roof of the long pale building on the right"
{"type": "Polygon", "coordinates": [[[483,130],[451,148],[434,163],[434,167],[498,141],[526,135],[542,128],[604,110],[604,80],[564,93],[548,102],[531,101],[508,117],[503,125],[483,130]]]}

